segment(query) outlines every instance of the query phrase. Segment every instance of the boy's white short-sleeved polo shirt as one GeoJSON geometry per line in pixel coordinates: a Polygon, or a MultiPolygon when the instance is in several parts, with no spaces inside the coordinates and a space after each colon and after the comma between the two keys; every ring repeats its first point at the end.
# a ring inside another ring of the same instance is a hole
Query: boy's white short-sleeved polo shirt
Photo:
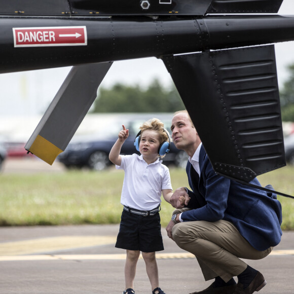
{"type": "Polygon", "coordinates": [[[122,163],[116,168],[125,171],[121,195],[125,206],[152,210],[161,203],[161,190],[172,190],[169,170],[162,160],[147,164],[142,155],[122,155],[122,163]]]}

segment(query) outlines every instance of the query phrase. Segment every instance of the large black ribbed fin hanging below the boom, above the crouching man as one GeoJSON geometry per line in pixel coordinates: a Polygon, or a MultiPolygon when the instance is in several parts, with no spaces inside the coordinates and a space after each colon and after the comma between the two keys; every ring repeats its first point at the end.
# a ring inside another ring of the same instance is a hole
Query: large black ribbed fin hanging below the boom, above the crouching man
{"type": "Polygon", "coordinates": [[[249,182],[285,165],[273,45],[163,60],[216,172],[249,182]]]}

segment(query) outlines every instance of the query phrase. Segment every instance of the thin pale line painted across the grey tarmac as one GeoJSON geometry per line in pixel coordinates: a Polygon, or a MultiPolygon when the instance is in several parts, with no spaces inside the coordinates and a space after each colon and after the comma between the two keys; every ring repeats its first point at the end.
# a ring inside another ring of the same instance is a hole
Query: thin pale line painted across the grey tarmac
{"type": "MultiPolygon", "coordinates": [[[[270,256],[294,255],[294,250],[273,250],[270,256]]],[[[157,259],[194,259],[188,252],[157,253],[157,259]]],[[[0,262],[5,261],[77,261],[77,260],[125,260],[126,254],[58,254],[58,255],[16,255],[0,256],[0,262]]],[[[142,255],[140,255],[142,259],[142,255]]]]}

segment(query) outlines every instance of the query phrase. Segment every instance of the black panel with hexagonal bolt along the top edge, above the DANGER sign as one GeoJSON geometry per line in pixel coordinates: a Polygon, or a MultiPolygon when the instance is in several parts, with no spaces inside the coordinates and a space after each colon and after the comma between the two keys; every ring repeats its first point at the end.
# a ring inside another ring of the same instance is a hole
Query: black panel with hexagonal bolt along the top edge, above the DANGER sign
{"type": "Polygon", "coordinates": [[[0,14],[27,16],[204,15],[212,0],[0,0],[0,14]]]}

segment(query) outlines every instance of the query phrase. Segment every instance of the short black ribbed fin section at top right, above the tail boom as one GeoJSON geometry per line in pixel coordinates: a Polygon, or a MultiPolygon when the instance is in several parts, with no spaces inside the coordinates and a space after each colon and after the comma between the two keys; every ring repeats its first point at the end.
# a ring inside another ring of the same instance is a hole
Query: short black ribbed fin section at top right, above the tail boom
{"type": "Polygon", "coordinates": [[[207,13],[278,13],[283,0],[213,0],[207,13]]]}

